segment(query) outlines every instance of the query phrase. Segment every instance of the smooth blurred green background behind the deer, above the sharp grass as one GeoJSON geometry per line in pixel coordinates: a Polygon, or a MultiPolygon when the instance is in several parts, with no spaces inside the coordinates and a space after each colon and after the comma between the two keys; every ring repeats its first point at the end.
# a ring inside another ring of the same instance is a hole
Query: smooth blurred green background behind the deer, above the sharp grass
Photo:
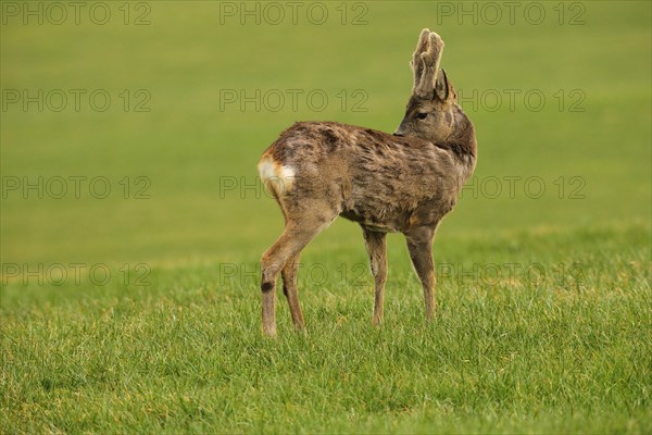
{"type": "MultiPolygon", "coordinates": [[[[441,243],[591,226],[643,225],[649,234],[650,2],[539,2],[546,12],[539,25],[531,24],[539,9],[527,15],[528,3],[519,3],[513,24],[503,8],[496,25],[481,2],[465,4],[475,15],[442,9],[461,8],[457,2],[326,2],[322,25],[309,20],[319,21],[319,11],[309,15],[308,3],[296,23],[284,7],[278,25],[268,3],[248,3],[261,8],[260,24],[240,15],[240,2],[133,2],[128,16],[123,3],[108,4],[105,25],[89,18],[89,8],[79,24],[68,9],[61,25],[48,22],[58,20],[55,10],[43,11],[42,25],[34,16],[25,25],[22,14],[3,9],[3,183],[101,176],[112,188],[105,199],[89,195],[87,182],[79,199],[71,191],[62,199],[47,190],[42,199],[34,190],[27,198],[20,189],[3,191],[3,263],[256,261],[283,227],[276,203],[260,185],[251,187],[261,152],[299,120],[392,132],[411,90],[408,62],[423,27],[447,44],[442,66],[464,97],[479,142],[475,190],[465,190],[444,221],[441,243]],[[25,110],[23,101],[8,100],[12,91],[34,96],[39,89],[68,92],[67,105],[53,111],[53,99],[42,111],[37,103],[25,110]],[[79,111],[70,89],[86,91],[79,111]],[[90,105],[96,89],[111,97],[103,112],[90,105]],[[273,92],[260,111],[224,100],[225,92],[254,96],[256,89],[273,92]],[[302,92],[297,110],[288,89],[302,92]],[[315,89],[328,97],[323,111],[306,100],[315,89]],[[506,90],[516,92],[513,108],[506,90]],[[528,91],[544,96],[541,110],[528,109],[528,91]],[[287,98],[280,110],[269,110],[278,92],[287,98]],[[497,110],[496,95],[502,97],[497,110]],[[141,108],[149,112],[135,111],[146,97],[141,108]],[[143,186],[136,184],[139,176],[151,183],[149,199],[134,198],[143,186]],[[513,197],[504,178],[512,176],[522,177],[513,197]],[[538,177],[532,190],[526,190],[528,177],[538,177]],[[502,192],[493,198],[496,179],[502,192]],[[535,198],[541,181],[546,191],[535,198]]],[[[352,241],[358,238],[359,228],[340,220],[309,250],[346,247],[362,256],[362,241],[352,241]]],[[[402,244],[392,237],[390,249],[402,244]]]]}

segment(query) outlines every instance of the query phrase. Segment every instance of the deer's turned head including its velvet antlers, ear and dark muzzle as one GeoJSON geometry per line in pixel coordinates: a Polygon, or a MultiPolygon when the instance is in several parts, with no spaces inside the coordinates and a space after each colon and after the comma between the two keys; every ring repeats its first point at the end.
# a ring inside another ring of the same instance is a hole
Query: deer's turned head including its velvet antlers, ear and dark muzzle
{"type": "Polygon", "coordinates": [[[412,96],[396,136],[440,142],[454,133],[457,96],[446,72],[439,69],[442,51],[441,37],[424,28],[410,63],[414,72],[412,96]]]}

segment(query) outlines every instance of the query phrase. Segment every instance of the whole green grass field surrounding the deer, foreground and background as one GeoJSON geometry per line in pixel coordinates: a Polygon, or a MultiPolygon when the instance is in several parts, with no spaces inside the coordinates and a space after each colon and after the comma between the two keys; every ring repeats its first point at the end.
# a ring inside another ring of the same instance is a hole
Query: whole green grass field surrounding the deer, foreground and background
{"type": "Polygon", "coordinates": [[[26,4],[0,3],[0,433],[652,432],[649,2],[26,4]],[[423,27],[479,146],[436,321],[393,235],[371,326],[338,221],[306,333],[279,293],[264,339],[260,153],[298,120],[393,130],[423,27]]]}

